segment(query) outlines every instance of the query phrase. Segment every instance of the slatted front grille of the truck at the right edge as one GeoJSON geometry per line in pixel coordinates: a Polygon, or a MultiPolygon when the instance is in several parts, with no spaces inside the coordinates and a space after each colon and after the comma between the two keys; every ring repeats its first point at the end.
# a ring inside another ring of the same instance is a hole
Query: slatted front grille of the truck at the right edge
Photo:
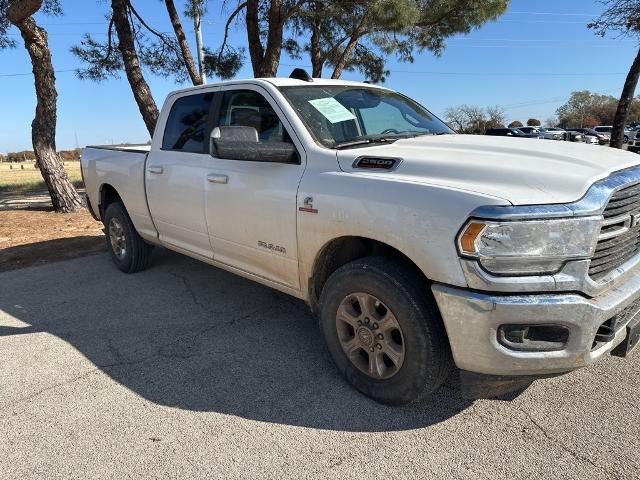
{"type": "Polygon", "coordinates": [[[640,183],[616,191],[602,215],[604,222],[589,265],[594,280],[640,252],[640,183]]]}

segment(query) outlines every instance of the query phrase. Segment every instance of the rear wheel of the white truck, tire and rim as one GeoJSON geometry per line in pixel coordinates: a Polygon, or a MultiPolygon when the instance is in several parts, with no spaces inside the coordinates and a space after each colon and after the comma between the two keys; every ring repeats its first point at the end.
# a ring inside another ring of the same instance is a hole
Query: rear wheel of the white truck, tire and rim
{"type": "Polygon", "coordinates": [[[151,265],[153,247],[136,231],[120,202],[111,203],[104,214],[107,248],[113,263],[125,273],[135,273],[151,265]]]}

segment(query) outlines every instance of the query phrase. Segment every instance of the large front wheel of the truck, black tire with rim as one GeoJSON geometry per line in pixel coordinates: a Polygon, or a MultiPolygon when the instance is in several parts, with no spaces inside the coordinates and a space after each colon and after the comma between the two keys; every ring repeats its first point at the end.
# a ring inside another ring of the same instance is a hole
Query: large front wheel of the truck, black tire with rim
{"type": "Polygon", "coordinates": [[[320,327],[340,373],[380,403],[414,402],[436,391],[453,368],[428,286],[392,258],[368,257],[336,270],[320,296],[320,327]]]}

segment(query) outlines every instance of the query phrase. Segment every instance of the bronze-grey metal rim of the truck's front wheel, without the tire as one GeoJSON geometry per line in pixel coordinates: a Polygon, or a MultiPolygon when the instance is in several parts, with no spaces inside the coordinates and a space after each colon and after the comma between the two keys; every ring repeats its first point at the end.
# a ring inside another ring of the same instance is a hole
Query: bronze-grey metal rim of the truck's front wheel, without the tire
{"type": "Polygon", "coordinates": [[[368,293],[348,295],[336,313],[342,350],[361,372],[384,380],[404,363],[404,337],[393,312],[368,293]]]}

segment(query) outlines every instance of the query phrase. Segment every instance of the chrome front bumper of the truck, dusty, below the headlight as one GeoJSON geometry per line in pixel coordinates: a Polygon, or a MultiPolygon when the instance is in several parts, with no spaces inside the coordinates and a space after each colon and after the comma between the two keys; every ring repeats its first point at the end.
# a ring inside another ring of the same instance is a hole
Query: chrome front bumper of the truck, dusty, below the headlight
{"type": "Polygon", "coordinates": [[[550,375],[590,365],[625,341],[626,326],[638,309],[640,271],[629,272],[623,282],[595,298],[477,293],[439,284],[432,290],[459,368],[487,375],[550,375]],[[601,326],[614,317],[613,338],[596,342],[601,326]],[[559,350],[513,350],[498,341],[503,325],[556,325],[565,327],[569,336],[559,350]]]}

